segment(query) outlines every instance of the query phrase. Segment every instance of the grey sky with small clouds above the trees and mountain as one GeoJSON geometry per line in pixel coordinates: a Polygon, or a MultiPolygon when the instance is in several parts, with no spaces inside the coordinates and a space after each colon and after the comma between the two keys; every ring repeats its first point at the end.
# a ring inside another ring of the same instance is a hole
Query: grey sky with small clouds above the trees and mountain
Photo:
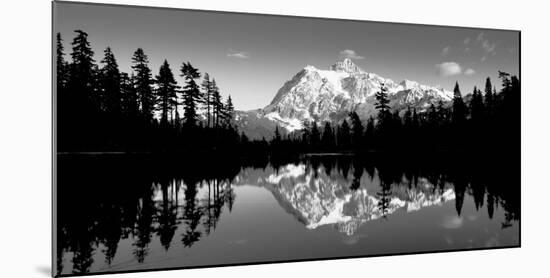
{"type": "Polygon", "coordinates": [[[238,110],[268,105],[307,65],[328,69],[346,57],[395,82],[452,90],[458,81],[463,95],[487,77],[498,89],[498,70],[519,73],[515,31],[54,2],[54,32],[69,60],[77,29],[97,62],[110,46],[124,72],[138,47],[155,75],[166,59],[179,85],[181,64],[191,62],[238,110]]]}

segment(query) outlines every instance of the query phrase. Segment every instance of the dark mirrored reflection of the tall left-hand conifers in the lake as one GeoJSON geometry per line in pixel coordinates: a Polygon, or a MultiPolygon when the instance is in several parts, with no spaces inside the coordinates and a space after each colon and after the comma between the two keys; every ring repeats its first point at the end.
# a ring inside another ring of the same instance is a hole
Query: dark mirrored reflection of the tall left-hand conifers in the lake
{"type": "Polygon", "coordinates": [[[143,263],[153,238],[168,250],[174,244],[190,248],[212,233],[222,211],[232,210],[231,183],[240,168],[234,161],[208,161],[209,167],[204,167],[206,160],[197,161],[133,155],[60,158],[57,274],[64,273],[67,252],[73,254],[72,273],[80,274],[90,272],[100,245],[110,266],[121,240],[132,239],[133,258],[143,263]]]}

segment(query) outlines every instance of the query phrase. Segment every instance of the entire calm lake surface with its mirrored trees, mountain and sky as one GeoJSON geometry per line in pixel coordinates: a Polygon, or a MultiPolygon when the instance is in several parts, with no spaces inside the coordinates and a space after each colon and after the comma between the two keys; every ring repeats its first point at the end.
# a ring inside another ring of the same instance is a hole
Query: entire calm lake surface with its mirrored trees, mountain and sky
{"type": "Polygon", "coordinates": [[[57,273],[519,245],[519,170],[181,160],[58,156],[57,273]]]}

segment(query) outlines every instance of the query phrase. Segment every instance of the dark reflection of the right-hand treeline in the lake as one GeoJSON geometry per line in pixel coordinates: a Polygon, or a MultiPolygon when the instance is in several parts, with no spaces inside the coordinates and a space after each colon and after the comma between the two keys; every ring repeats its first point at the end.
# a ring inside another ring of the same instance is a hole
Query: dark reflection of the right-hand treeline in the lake
{"type": "Polygon", "coordinates": [[[469,157],[469,154],[449,157],[444,153],[433,153],[401,159],[388,158],[379,153],[369,157],[313,155],[296,161],[305,163],[306,168],[313,169],[314,173],[324,171],[327,176],[341,175],[349,179],[352,190],[362,186],[361,178],[365,175],[371,181],[377,177],[379,191],[376,195],[380,198],[378,206],[384,216],[393,196],[404,189],[425,190],[424,180],[432,185],[432,193],[441,194],[449,186],[453,188],[458,216],[462,213],[464,197],[468,194],[473,197],[476,210],[486,207],[490,219],[493,218],[495,208],[502,207],[505,212],[502,228],[511,226],[512,221],[520,219],[521,198],[518,191],[521,180],[516,166],[492,157],[479,157],[465,165],[464,161],[469,157]],[[502,175],[502,172],[510,175],[502,175]]]}

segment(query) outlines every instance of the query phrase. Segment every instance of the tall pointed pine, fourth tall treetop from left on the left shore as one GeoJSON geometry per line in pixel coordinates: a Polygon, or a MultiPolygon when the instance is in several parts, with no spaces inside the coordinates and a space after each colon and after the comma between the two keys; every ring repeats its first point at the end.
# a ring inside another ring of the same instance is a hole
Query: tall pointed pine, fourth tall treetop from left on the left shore
{"type": "Polygon", "coordinates": [[[136,93],[139,98],[141,108],[141,116],[146,122],[153,120],[153,109],[156,102],[153,94],[153,77],[149,68],[149,58],[143,52],[143,49],[138,48],[132,57],[132,69],[134,70],[134,84],[136,93]]]}

